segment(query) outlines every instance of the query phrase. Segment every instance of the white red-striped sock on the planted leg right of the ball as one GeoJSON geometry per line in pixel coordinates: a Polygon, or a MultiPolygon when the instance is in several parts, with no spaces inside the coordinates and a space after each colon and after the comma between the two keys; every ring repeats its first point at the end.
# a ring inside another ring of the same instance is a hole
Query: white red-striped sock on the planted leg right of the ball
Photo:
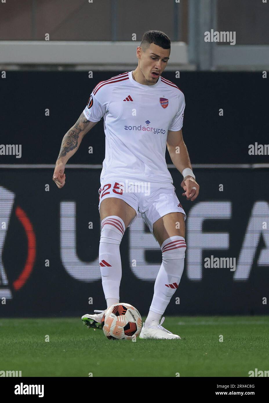
{"type": "MultiPolygon", "coordinates": [[[[161,251],[163,260],[155,280],[154,295],[149,313],[155,312],[161,316],[166,310],[166,307],[180,283],[184,270],[185,250],[185,238],[178,235],[170,237],[162,243],[161,251]]],[[[145,327],[156,326],[155,322],[157,318],[150,319],[152,318],[152,314],[149,315],[149,319],[146,319],[145,327]]]]}

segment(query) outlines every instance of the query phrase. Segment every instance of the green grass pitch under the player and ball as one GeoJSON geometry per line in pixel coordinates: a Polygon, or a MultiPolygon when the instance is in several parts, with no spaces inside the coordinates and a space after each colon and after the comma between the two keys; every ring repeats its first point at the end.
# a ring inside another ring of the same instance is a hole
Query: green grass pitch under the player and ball
{"type": "Polygon", "coordinates": [[[108,340],[102,330],[83,326],[80,318],[0,319],[0,371],[21,370],[22,376],[248,377],[255,368],[269,369],[267,316],[166,317],[163,325],[182,339],[108,340]]]}

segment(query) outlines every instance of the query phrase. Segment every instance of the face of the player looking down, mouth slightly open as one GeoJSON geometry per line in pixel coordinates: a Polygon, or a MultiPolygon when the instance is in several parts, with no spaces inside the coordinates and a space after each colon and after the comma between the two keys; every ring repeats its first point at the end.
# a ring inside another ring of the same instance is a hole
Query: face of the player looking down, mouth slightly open
{"type": "Polygon", "coordinates": [[[163,49],[155,44],[150,44],[145,51],[141,49],[140,55],[140,70],[145,80],[155,84],[166,68],[170,49],[163,49]]]}

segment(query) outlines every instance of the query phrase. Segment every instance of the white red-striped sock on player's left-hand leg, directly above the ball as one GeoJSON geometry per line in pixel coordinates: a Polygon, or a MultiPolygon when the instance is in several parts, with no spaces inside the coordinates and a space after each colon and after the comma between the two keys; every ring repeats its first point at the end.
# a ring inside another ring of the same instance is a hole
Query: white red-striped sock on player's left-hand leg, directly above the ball
{"type": "Polygon", "coordinates": [[[124,221],[118,216],[108,216],[101,222],[99,264],[103,292],[108,306],[118,303],[120,300],[120,280],[122,277],[120,243],[124,231],[124,221]],[[116,302],[110,303],[111,299],[116,302]]]}

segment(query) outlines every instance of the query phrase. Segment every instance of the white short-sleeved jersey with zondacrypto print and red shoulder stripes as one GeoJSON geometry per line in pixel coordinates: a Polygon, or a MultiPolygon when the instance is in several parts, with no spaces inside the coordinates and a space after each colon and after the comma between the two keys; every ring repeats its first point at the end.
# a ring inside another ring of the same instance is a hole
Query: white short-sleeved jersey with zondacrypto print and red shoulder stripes
{"type": "Polygon", "coordinates": [[[163,77],[143,85],[129,71],[98,83],[83,113],[91,122],[104,119],[101,185],[127,179],[174,187],[165,159],[166,140],[168,130],[182,128],[184,108],[182,91],[163,77]]]}

